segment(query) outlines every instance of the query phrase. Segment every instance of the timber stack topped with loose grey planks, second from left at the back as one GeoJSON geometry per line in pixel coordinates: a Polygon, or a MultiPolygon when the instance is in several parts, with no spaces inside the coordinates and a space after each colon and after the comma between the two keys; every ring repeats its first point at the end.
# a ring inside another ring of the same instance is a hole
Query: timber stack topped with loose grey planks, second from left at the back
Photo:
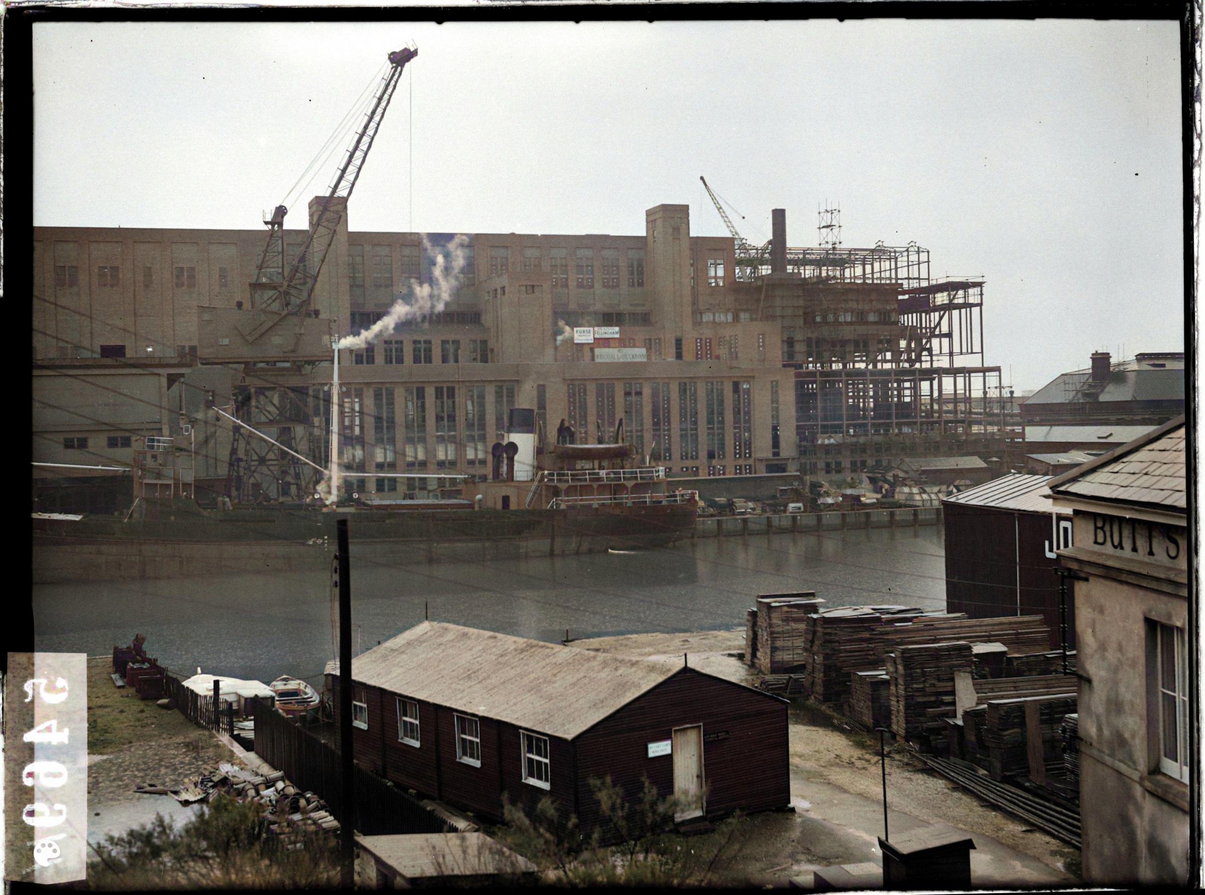
{"type": "Polygon", "coordinates": [[[809,615],[804,632],[807,694],[817,702],[847,703],[850,675],[883,667],[875,632],[923,614],[922,609],[904,606],[859,606],[824,609],[809,615]]]}

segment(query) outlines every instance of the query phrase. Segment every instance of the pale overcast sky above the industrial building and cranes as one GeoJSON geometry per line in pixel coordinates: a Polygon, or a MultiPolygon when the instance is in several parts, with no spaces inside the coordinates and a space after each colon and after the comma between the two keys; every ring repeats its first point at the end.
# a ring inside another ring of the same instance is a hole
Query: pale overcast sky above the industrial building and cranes
{"type": "Polygon", "coordinates": [[[984,277],[1018,392],[1183,350],[1174,22],[39,23],[34,223],[260,229],[411,42],[352,230],[725,235],[704,175],[751,241],[839,205],[844,246],[984,277]]]}

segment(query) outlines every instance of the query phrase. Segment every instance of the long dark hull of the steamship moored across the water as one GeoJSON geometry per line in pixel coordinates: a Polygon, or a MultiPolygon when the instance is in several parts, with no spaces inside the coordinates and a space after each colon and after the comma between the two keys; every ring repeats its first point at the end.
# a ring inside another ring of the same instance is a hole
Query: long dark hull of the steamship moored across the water
{"type": "Polygon", "coordinates": [[[349,511],[160,508],[158,519],[34,520],[34,583],[330,568],[336,519],[352,560],[486,562],[664,548],[694,533],[684,504],[558,510],[349,511]]]}

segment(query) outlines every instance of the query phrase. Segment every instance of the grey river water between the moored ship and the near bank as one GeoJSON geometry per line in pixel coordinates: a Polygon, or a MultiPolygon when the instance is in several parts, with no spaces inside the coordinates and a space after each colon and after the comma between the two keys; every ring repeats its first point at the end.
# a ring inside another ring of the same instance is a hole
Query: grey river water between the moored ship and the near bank
{"type": "MultiPolygon", "coordinates": [[[[741,627],[758,593],[829,606],[945,606],[942,528],[706,538],[636,552],[352,567],[353,649],[437,621],[560,640],[741,627]]],[[[34,586],[39,650],[108,654],[135,633],[160,663],[319,683],[334,655],[327,573],[223,574],[34,586]]]]}

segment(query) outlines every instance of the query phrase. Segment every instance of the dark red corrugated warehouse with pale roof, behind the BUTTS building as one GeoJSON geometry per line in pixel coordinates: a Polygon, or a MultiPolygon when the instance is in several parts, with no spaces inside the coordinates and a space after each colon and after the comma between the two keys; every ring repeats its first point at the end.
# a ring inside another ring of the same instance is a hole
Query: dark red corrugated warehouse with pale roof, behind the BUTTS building
{"type": "MultiPolygon", "coordinates": [[[[1005,475],[942,501],[946,609],[972,619],[1041,615],[1059,640],[1057,546],[1071,545],[1071,516],[1056,514],[1050,475],[1005,475]]],[[[1075,645],[1075,591],[1068,581],[1068,648],[1075,645]]]]}

